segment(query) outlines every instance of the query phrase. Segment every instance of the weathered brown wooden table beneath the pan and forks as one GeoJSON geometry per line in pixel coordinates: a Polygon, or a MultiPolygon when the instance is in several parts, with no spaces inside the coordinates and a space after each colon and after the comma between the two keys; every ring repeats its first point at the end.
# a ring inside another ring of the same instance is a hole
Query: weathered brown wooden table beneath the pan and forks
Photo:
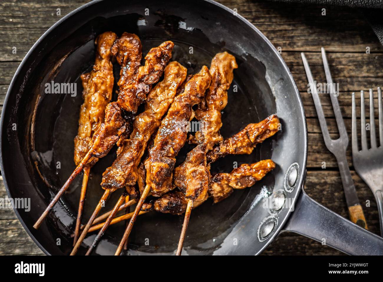
{"type": "MultiPolygon", "coordinates": [[[[85,4],[86,0],[5,0],[0,2],[0,105],[8,85],[33,43],[57,20],[85,4]],[[61,15],[56,15],[56,9],[61,15]],[[12,48],[16,47],[16,54],[12,48]]],[[[300,52],[306,52],[314,79],[326,82],[320,48],[325,47],[334,82],[339,83],[338,97],[351,138],[351,92],[383,86],[383,47],[358,9],[308,6],[267,1],[221,0],[227,7],[253,23],[276,48],[290,68],[300,90],[308,125],[308,175],[306,192],[327,208],[348,217],[339,169],[335,157],[326,149],[300,52]],[[322,9],[326,15],[322,15],[322,9]],[[370,54],[366,53],[369,47],[370,54]],[[326,169],[322,169],[326,162],[326,169]]],[[[376,96],[376,93],[375,93],[376,96]]],[[[337,127],[331,102],[322,97],[324,113],[333,137],[337,127]]],[[[377,101],[375,101],[377,105],[377,101]]],[[[358,109],[357,109],[358,110],[358,109]]],[[[375,116],[377,117],[377,109],[375,116]]],[[[351,146],[347,151],[352,178],[370,230],[379,234],[378,212],[372,192],[352,167],[351,146]],[[370,207],[365,207],[369,200],[370,207]]],[[[0,183],[0,198],[6,192],[0,183]]],[[[0,254],[43,254],[24,231],[13,210],[0,210],[0,254]]],[[[264,254],[342,254],[312,239],[283,233],[264,254]]]]}

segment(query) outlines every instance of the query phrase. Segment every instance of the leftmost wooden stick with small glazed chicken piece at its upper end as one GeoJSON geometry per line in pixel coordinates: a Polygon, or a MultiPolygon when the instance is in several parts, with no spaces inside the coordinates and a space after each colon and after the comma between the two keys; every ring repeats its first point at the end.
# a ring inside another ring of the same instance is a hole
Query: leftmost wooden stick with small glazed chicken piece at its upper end
{"type": "Polygon", "coordinates": [[[100,125],[97,131],[93,134],[91,147],[87,154],[84,156],[80,164],[76,167],[74,172],[70,175],[69,179],[61,187],[59,192],[49,203],[46,210],[40,216],[38,221],[33,225],[34,228],[39,228],[44,218],[47,216],[51,208],[57,203],[59,198],[68,189],[73,179],[82,171],[83,167],[88,163],[91,157],[101,158],[108,154],[110,149],[116,144],[119,136],[125,131],[125,121],[121,117],[121,111],[116,102],[111,102],[105,109],[105,121],[100,125]]]}

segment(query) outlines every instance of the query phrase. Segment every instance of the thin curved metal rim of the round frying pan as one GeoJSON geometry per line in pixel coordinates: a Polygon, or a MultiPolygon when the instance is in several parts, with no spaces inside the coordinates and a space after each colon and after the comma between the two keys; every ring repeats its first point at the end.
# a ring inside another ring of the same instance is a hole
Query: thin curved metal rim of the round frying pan
{"type": "MultiPolygon", "coordinates": [[[[7,109],[7,104],[8,104],[8,99],[11,95],[11,90],[13,90],[13,85],[15,84],[15,80],[17,79],[17,77],[19,76],[20,72],[21,72],[21,69],[23,69],[23,67],[25,66],[25,63],[26,61],[29,59],[29,57],[31,56],[31,54],[38,48],[39,44],[41,43],[41,41],[43,41],[43,39],[45,39],[51,32],[52,30],[54,30],[55,28],[57,28],[57,26],[61,25],[64,21],[68,20],[70,17],[72,17],[73,15],[75,15],[76,13],[78,13],[79,11],[82,11],[83,9],[85,8],[88,8],[90,7],[91,5],[94,5],[94,4],[97,4],[99,2],[103,2],[105,0],[94,0],[92,2],[89,2],[89,3],[86,3],[78,8],[76,8],[75,10],[71,11],[70,13],[68,13],[67,15],[65,15],[64,17],[62,17],[60,20],[58,20],[56,23],[54,23],[54,25],[52,25],[48,30],[46,30],[42,35],[41,37],[33,44],[33,46],[31,47],[31,49],[29,49],[29,51],[26,53],[25,57],[23,58],[23,60],[21,61],[20,65],[18,66],[18,68],[16,69],[16,72],[15,74],[13,75],[13,78],[10,82],[10,85],[8,87],[8,90],[7,90],[7,94],[5,96],[5,99],[4,99],[4,103],[3,103],[3,110],[2,110],[2,113],[5,113],[5,110],[7,109]]],[[[216,5],[217,7],[225,10],[225,11],[228,11],[228,12],[231,12],[233,10],[231,10],[230,8],[224,6],[223,4],[221,3],[218,3],[218,2],[215,2],[213,0],[203,0],[205,2],[208,2],[208,3],[211,3],[213,5],[216,5]]],[[[301,97],[300,97],[300,93],[299,93],[299,90],[298,90],[298,87],[295,83],[295,80],[290,72],[290,69],[288,68],[288,66],[286,65],[285,61],[283,60],[282,56],[279,54],[279,52],[277,51],[277,49],[275,49],[275,47],[273,46],[273,44],[268,40],[268,38],[262,33],[260,32],[256,27],[255,25],[253,25],[252,23],[250,23],[248,20],[246,20],[246,18],[244,18],[243,16],[237,14],[236,15],[242,22],[246,23],[246,25],[251,28],[252,30],[254,30],[257,34],[259,34],[259,36],[268,44],[268,46],[272,49],[272,51],[274,52],[274,54],[278,57],[278,60],[280,61],[280,63],[282,64],[283,68],[285,69],[285,71],[287,72],[289,78],[290,78],[290,81],[292,82],[293,84],[293,87],[295,89],[295,94],[298,98],[298,103],[299,103],[299,106],[300,106],[300,115],[302,117],[302,121],[303,121],[303,132],[304,132],[304,138],[303,138],[303,141],[304,141],[304,157],[303,157],[303,163],[302,163],[302,169],[300,170],[300,175],[298,175],[299,177],[299,182],[297,184],[297,190],[296,190],[296,194],[295,194],[295,197],[293,199],[293,205],[291,205],[291,208],[288,210],[288,212],[286,213],[285,217],[283,218],[283,220],[281,221],[281,224],[278,226],[278,228],[275,230],[274,234],[272,236],[270,236],[270,238],[268,238],[267,242],[264,244],[264,246],[259,249],[255,255],[258,255],[260,254],[261,252],[264,251],[265,248],[267,248],[271,243],[272,241],[278,236],[278,234],[280,233],[280,231],[283,229],[283,226],[286,224],[288,218],[290,217],[291,213],[293,212],[292,209],[294,207],[294,204],[299,196],[299,193],[301,192],[301,187],[303,186],[303,182],[304,182],[304,179],[305,179],[305,176],[304,174],[306,173],[306,164],[307,164],[307,154],[308,154],[308,136],[307,136],[307,124],[306,124],[306,116],[305,116],[305,113],[304,113],[304,108],[303,108],[303,102],[301,100],[301,97]]],[[[2,173],[2,178],[3,178],[3,182],[4,182],[4,186],[5,186],[5,190],[7,191],[7,195],[9,198],[11,198],[11,193],[10,193],[10,190],[9,190],[9,187],[8,187],[8,184],[7,184],[7,180],[6,180],[6,177],[5,177],[5,173],[4,173],[4,164],[3,164],[3,125],[4,125],[4,120],[5,120],[5,115],[1,115],[1,119],[0,119],[0,169],[1,169],[1,173],[2,173]]],[[[20,213],[18,212],[18,210],[16,208],[13,209],[15,211],[15,214],[18,218],[18,220],[20,221],[21,225],[23,226],[23,228],[25,229],[25,231],[27,232],[27,234],[29,235],[29,237],[34,241],[34,243],[36,243],[36,245],[46,254],[46,255],[51,255],[40,243],[39,241],[33,236],[32,232],[29,230],[29,228],[26,226],[24,220],[21,218],[21,215],[20,213]]]]}

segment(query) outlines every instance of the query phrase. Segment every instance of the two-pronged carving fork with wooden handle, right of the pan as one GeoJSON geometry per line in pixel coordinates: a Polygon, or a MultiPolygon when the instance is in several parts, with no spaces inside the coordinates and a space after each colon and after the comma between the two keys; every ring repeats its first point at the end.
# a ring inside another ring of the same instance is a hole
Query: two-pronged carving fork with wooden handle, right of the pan
{"type": "MultiPolygon", "coordinates": [[[[331,93],[329,94],[331,97],[332,108],[334,110],[334,115],[339,131],[339,138],[331,139],[329,131],[327,129],[323,109],[321,106],[321,100],[319,99],[319,95],[316,90],[316,85],[314,85],[313,74],[311,73],[311,69],[309,67],[306,56],[304,55],[304,53],[301,53],[301,55],[304,64],[304,69],[306,70],[307,78],[310,84],[311,94],[313,96],[319,124],[321,126],[324,143],[326,144],[327,149],[329,149],[329,151],[332,152],[332,154],[334,154],[338,162],[340,178],[342,179],[344,195],[349,210],[350,220],[356,223],[357,225],[367,229],[367,223],[363,214],[362,206],[359,203],[359,199],[354,187],[354,182],[352,181],[349,166],[347,164],[346,149],[349,144],[349,138],[347,136],[346,128],[344,126],[342,113],[340,112],[339,103],[336,95],[337,93],[335,92],[334,87],[330,87],[331,93]]],[[[324,72],[326,74],[327,85],[332,86],[333,83],[331,72],[329,64],[327,62],[326,51],[324,50],[324,48],[322,48],[322,60],[324,72]]]]}

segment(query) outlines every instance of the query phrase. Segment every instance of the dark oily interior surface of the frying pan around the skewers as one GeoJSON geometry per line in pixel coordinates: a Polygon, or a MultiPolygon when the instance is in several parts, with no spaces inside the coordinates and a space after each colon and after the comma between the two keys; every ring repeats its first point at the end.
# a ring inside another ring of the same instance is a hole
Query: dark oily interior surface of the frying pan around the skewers
{"type": "MultiPolygon", "coordinates": [[[[221,134],[224,138],[273,113],[277,113],[283,123],[284,117],[291,120],[291,116],[296,115],[294,111],[300,110],[295,96],[283,103],[275,97],[281,95],[282,90],[283,95],[288,95],[289,92],[294,95],[295,89],[289,80],[288,72],[271,50],[272,47],[260,34],[238,21],[228,11],[208,2],[201,5],[207,5],[210,12],[219,11],[213,13],[214,16],[211,16],[211,13],[201,13],[201,7],[177,9],[175,4],[172,8],[164,10],[163,7],[156,8],[157,4],[153,3],[149,15],[145,15],[145,8],[133,3],[129,10],[116,9],[115,13],[105,12],[104,15],[101,12],[102,8],[105,8],[105,11],[110,11],[111,8],[102,3],[104,2],[89,6],[86,16],[84,10],[80,11],[79,14],[82,13],[83,17],[75,21],[71,28],[64,22],[51,31],[51,38],[54,38],[54,34],[61,33],[61,40],[49,41],[49,47],[43,51],[44,56],[41,56],[36,66],[30,68],[31,73],[26,85],[20,90],[22,95],[20,106],[17,108],[17,119],[22,131],[17,133],[18,148],[30,178],[26,193],[31,195],[32,201],[35,199],[36,207],[39,207],[36,208],[38,211],[31,214],[20,211],[28,228],[33,225],[52,195],[75,168],[73,139],[77,134],[79,110],[83,102],[80,75],[92,69],[95,58],[94,39],[104,31],[111,30],[118,35],[124,31],[136,33],[142,41],[143,54],[165,40],[172,40],[175,43],[172,61],[178,61],[187,67],[188,74],[195,74],[203,65],[210,67],[211,59],[217,52],[228,51],[233,54],[238,69],[234,71],[234,81],[228,91],[228,105],[223,110],[221,134]],[[45,93],[45,83],[52,81],[76,83],[77,95],[73,97],[70,94],[45,93]]],[[[116,84],[119,76],[119,66],[116,62],[114,70],[116,84]]],[[[117,90],[116,85],[114,90],[117,90]]],[[[268,197],[276,189],[276,185],[278,189],[283,187],[282,180],[277,179],[283,177],[285,162],[292,161],[291,157],[282,156],[280,153],[284,138],[293,138],[286,129],[257,146],[252,154],[227,156],[212,166],[212,174],[230,172],[233,167],[242,163],[271,158],[277,162],[278,167],[254,187],[236,190],[229,198],[215,205],[209,199],[193,210],[184,244],[189,254],[213,254],[219,249],[231,248],[232,242],[228,243],[225,239],[244,215],[249,210],[254,210],[254,203],[258,202],[257,205],[260,205],[259,198],[268,197]],[[283,134],[285,135],[282,138],[283,134]]],[[[297,146],[300,142],[296,141],[297,146]]],[[[178,164],[185,159],[191,148],[193,146],[185,145],[178,154],[178,164]]],[[[295,149],[292,148],[291,151],[290,154],[293,154],[295,149]]],[[[83,223],[86,223],[103,193],[100,187],[101,175],[115,157],[115,149],[112,149],[108,156],[100,159],[92,168],[83,223]]],[[[72,249],[72,239],[69,236],[75,225],[81,179],[82,174],[50,213],[47,225],[42,227],[40,232],[32,231],[36,238],[40,238],[38,240],[43,247],[50,249],[53,254],[68,254],[72,249]],[[43,242],[44,238],[49,243],[43,242]],[[54,246],[57,238],[61,239],[61,244],[54,246]]],[[[20,185],[19,189],[16,189],[13,185],[14,180],[8,182],[14,197],[25,193],[21,192],[24,188],[20,188],[20,185]]],[[[101,212],[112,208],[121,193],[122,191],[114,192],[101,212]]],[[[255,215],[262,217],[265,211],[259,210],[255,215]]],[[[125,252],[173,254],[177,248],[182,222],[183,216],[159,214],[155,211],[139,216],[129,237],[129,250],[125,252]]],[[[124,224],[110,226],[94,253],[113,254],[123,234],[124,224]]],[[[85,244],[91,244],[95,235],[88,236],[85,244]]],[[[82,247],[79,254],[85,251],[82,247]]]]}

